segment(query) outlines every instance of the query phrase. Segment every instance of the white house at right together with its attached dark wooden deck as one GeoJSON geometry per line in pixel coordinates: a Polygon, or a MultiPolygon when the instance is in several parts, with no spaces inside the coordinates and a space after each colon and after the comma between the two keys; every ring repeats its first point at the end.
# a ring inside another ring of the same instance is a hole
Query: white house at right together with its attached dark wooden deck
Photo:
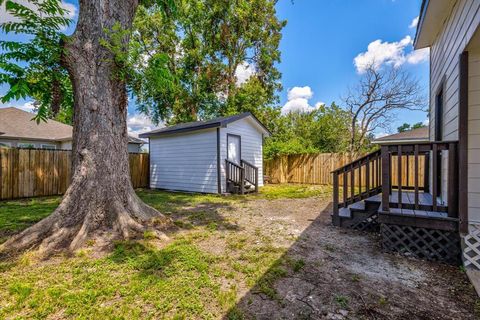
{"type": "Polygon", "coordinates": [[[378,139],[380,150],[335,170],[332,216],[338,226],[380,230],[385,251],[455,264],[463,259],[477,290],[479,25],[478,0],[422,2],[414,46],[430,48],[428,139],[378,139]]]}

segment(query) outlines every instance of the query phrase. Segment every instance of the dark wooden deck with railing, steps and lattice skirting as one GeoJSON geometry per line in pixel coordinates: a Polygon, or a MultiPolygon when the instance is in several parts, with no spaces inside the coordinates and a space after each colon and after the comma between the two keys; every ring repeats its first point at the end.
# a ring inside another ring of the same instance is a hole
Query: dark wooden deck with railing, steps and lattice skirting
{"type": "Polygon", "coordinates": [[[382,145],[380,151],[333,171],[332,223],[360,231],[379,231],[386,252],[459,263],[457,149],[455,141],[382,145]],[[445,157],[446,185],[434,178],[430,186],[430,177],[438,176],[445,157]],[[412,159],[413,181],[404,179],[403,174],[412,159]],[[445,203],[437,200],[443,187],[449,190],[445,203]]]}

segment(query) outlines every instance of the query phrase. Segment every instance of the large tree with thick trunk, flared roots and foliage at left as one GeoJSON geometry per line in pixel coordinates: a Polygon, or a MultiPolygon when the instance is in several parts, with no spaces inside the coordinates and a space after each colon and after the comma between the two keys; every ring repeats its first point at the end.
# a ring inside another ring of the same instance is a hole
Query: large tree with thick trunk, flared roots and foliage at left
{"type": "MultiPolygon", "coordinates": [[[[67,24],[59,1],[32,0],[35,9],[9,0],[1,2],[6,2],[6,10],[19,19],[3,24],[2,31],[32,35],[30,41],[43,41],[38,48],[45,49],[27,50],[24,56],[18,56],[21,43],[4,44],[6,52],[2,53],[1,61],[2,68],[7,70],[2,79],[7,79],[10,89],[3,99],[31,96],[36,82],[29,82],[20,69],[28,74],[36,57],[54,52],[57,55],[51,59],[58,62],[55,66],[65,68],[72,83],[74,111],[73,176],[62,202],[50,216],[5,242],[2,250],[18,252],[36,247],[45,253],[74,250],[87,239],[95,239],[99,245],[108,244],[113,239],[141,234],[149,224],[153,228],[151,223],[154,219],[162,221],[162,215],[137,197],[130,181],[124,55],[117,56],[105,46],[116,40],[112,38],[116,35],[123,44],[117,46],[119,52],[128,50],[128,30],[138,2],[80,1],[78,23],[69,37],[59,34],[60,27],[67,24]],[[48,37],[42,36],[38,28],[45,28],[48,37]]],[[[164,12],[172,7],[167,0],[161,4],[164,12]]],[[[47,79],[40,77],[38,81],[47,79]]],[[[52,83],[46,83],[45,87],[50,88],[52,83]]]]}

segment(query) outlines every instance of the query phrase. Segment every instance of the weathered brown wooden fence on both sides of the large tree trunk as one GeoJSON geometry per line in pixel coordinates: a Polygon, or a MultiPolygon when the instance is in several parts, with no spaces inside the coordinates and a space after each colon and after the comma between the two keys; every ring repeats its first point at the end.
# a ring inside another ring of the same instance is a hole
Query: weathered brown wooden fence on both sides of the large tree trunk
{"type": "MultiPolygon", "coordinates": [[[[65,193],[70,185],[72,152],[0,148],[0,200],[65,193]]],[[[131,153],[134,188],[148,187],[149,155],[131,153]]]]}

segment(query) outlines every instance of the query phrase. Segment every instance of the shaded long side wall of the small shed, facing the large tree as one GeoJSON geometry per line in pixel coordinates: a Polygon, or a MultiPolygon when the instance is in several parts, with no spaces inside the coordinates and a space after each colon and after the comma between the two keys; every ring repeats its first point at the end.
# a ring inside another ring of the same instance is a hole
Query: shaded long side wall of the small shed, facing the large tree
{"type": "Polygon", "coordinates": [[[150,138],[150,187],[217,192],[216,129],[150,138]]]}

